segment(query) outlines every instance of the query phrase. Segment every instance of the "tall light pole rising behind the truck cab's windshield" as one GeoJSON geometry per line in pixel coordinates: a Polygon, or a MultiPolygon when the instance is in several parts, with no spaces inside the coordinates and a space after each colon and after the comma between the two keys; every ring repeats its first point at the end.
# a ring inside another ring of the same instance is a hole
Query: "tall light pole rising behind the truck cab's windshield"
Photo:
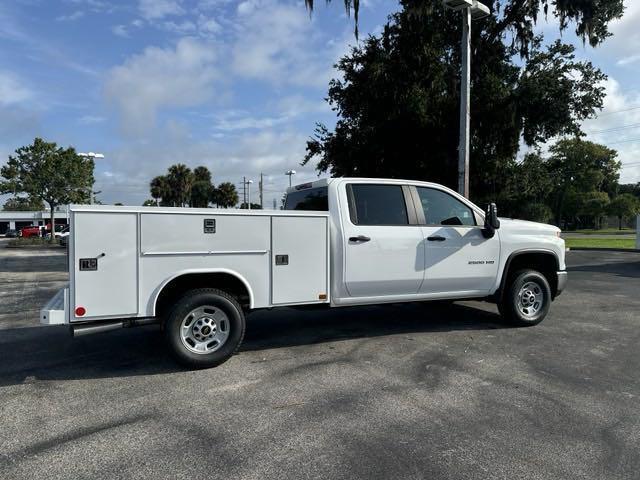
{"type": "Polygon", "coordinates": [[[462,12],[460,74],[460,143],[458,145],[458,193],[469,198],[469,96],[471,93],[471,20],[480,20],[491,11],[478,0],[443,0],[444,6],[462,12]]]}

